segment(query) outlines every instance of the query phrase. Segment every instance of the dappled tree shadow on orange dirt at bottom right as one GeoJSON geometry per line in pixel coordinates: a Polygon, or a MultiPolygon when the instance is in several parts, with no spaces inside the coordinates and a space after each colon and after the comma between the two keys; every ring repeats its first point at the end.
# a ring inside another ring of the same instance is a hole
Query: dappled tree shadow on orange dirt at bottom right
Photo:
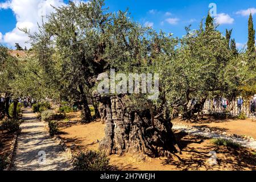
{"type": "MultiPolygon", "coordinates": [[[[182,171],[199,170],[255,170],[256,155],[248,148],[230,148],[225,146],[216,147],[213,144],[196,146],[190,144],[200,144],[200,137],[183,134],[180,138],[182,154],[173,154],[170,158],[164,159],[164,166],[175,166],[182,171]],[[210,165],[210,151],[217,154],[217,164],[210,165]]],[[[204,139],[202,139],[204,140],[204,139]]]]}

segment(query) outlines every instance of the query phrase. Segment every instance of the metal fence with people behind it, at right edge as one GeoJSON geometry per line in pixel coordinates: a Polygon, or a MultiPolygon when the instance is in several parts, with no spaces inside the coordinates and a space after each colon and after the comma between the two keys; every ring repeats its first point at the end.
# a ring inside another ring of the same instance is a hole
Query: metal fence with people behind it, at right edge
{"type": "MultiPolygon", "coordinates": [[[[240,115],[241,113],[245,114],[248,118],[256,118],[256,99],[255,98],[237,98],[237,100],[229,101],[226,98],[214,98],[208,99],[204,104],[204,113],[205,114],[230,114],[230,115],[240,115]]],[[[189,104],[192,106],[196,101],[192,100],[189,104]]]]}

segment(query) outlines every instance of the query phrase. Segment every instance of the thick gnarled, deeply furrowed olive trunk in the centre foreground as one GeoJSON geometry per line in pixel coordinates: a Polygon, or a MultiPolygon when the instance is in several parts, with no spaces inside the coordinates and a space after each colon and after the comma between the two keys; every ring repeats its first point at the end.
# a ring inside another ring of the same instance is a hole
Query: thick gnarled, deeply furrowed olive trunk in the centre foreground
{"type": "Polygon", "coordinates": [[[100,111],[104,111],[101,115],[106,124],[100,150],[106,154],[130,152],[158,157],[180,152],[172,132],[172,123],[163,119],[161,114],[154,117],[152,122],[150,110],[130,111],[125,107],[124,98],[104,97],[100,101],[100,111]]]}

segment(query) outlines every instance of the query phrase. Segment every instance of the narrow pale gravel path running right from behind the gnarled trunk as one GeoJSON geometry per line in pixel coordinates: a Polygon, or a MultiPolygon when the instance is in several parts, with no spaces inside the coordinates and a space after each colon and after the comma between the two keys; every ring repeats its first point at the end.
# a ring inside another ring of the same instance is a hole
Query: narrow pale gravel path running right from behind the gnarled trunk
{"type": "Polygon", "coordinates": [[[230,135],[221,131],[212,131],[208,127],[196,127],[196,126],[187,126],[181,124],[175,124],[172,129],[183,131],[190,135],[199,135],[207,138],[224,138],[228,140],[232,140],[233,142],[241,144],[243,147],[251,148],[256,150],[256,140],[248,137],[243,138],[242,136],[238,136],[236,134],[230,135]]]}

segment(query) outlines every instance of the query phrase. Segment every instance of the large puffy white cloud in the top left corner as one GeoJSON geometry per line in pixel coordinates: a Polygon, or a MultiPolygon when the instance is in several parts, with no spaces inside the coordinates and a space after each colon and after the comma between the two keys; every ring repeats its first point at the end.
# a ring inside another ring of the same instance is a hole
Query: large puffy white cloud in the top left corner
{"type": "MultiPolygon", "coordinates": [[[[79,0],[74,0],[76,4],[79,0]]],[[[29,39],[19,28],[27,28],[31,33],[38,31],[38,23],[42,24],[42,16],[49,15],[54,11],[53,7],[65,6],[63,0],[10,0],[0,3],[1,9],[11,9],[16,18],[16,27],[3,35],[3,43],[14,47],[15,43],[28,48],[26,43],[29,39]]]]}

